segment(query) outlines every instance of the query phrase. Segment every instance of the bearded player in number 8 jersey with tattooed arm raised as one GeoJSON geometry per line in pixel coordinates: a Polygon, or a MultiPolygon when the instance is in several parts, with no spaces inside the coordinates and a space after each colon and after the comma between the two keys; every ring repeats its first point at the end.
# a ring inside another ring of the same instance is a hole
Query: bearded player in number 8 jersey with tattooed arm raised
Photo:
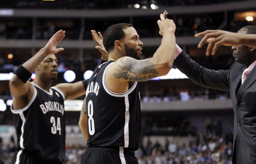
{"type": "Polygon", "coordinates": [[[108,62],[93,72],[86,89],[84,109],[89,134],[82,164],[138,163],[134,156],[141,125],[137,83],[166,75],[171,69],[175,24],[165,19],[167,14],[165,11],[157,21],[163,39],[149,59],[140,60],[143,43],[132,25],[119,23],[105,31],[108,62]]]}

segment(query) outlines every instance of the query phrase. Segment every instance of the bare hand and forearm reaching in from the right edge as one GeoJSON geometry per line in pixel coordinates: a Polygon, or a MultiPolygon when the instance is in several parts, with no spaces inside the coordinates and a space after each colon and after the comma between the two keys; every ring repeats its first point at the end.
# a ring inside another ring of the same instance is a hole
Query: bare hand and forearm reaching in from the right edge
{"type": "Polygon", "coordinates": [[[198,48],[201,48],[206,41],[209,42],[206,50],[206,55],[214,55],[221,45],[246,45],[256,48],[256,34],[239,34],[223,30],[206,30],[195,35],[195,37],[197,38],[202,36],[204,37],[198,44],[198,48]]]}

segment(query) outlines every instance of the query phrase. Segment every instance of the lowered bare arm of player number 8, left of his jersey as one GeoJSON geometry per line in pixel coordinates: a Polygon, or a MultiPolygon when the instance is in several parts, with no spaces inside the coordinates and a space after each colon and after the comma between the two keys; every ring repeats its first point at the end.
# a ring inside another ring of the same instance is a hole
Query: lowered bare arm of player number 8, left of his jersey
{"type": "Polygon", "coordinates": [[[78,123],[80,130],[83,134],[85,142],[88,140],[88,123],[87,123],[87,107],[86,107],[86,97],[81,109],[80,119],[78,123]]]}

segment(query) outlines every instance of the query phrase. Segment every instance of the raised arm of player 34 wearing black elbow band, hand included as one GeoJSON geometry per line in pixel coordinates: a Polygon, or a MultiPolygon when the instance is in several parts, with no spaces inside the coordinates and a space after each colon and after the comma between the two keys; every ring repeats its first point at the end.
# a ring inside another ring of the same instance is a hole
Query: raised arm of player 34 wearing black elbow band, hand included
{"type": "MultiPolygon", "coordinates": [[[[64,37],[65,31],[60,30],[56,32],[48,41],[48,43],[42,49],[40,49],[40,51],[38,51],[32,58],[20,66],[23,68],[23,71],[27,72],[27,74],[32,73],[38,64],[41,63],[41,61],[43,61],[47,55],[56,54],[60,51],[63,51],[64,48],[57,48],[57,45],[64,37]]],[[[9,81],[10,91],[14,96],[14,109],[20,109],[22,106],[25,107],[34,94],[34,88],[32,84],[29,81],[26,81],[28,79],[21,79],[23,75],[20,75],[20,73],[17,74],[18,76],[14,74],[14,76],[9,81]]]]}

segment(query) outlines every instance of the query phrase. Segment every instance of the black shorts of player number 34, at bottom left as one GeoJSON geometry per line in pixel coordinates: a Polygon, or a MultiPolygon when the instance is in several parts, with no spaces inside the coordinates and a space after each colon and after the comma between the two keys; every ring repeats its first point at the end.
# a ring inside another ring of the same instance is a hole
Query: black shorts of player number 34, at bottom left
{"type": "Polygon", "coordinates": [[[27,150],[17,150],[12,158],[12,164],[62,164],[58,161],[44,160],[27,150]]]}

